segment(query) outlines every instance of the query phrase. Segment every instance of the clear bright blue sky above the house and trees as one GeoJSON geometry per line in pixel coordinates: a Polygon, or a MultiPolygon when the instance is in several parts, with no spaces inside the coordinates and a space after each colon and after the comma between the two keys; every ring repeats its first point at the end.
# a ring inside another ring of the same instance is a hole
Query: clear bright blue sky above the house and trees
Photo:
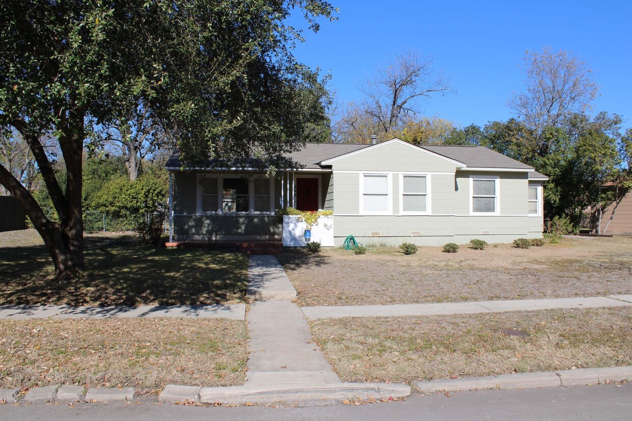
{"type": "Polygon", "coordinates": [[[511,117],[507,98],[523,86],[526,50],[572,51],[600,86],[595,112],[632,127],[632,1],[340,0],[339,20],[306,32],[295,56],[331,72],[343,102],[362,99],[358,83],[391,57],[432,56],[456,94],[435,97],[425,115],[459,126],[511,117]]]}

